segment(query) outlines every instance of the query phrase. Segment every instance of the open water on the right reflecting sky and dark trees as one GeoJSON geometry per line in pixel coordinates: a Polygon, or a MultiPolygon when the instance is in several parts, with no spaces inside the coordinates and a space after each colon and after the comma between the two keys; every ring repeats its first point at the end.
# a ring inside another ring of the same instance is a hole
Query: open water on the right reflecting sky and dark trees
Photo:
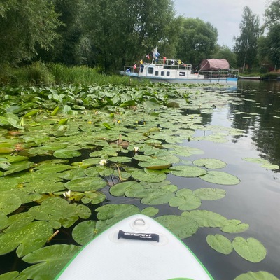
{"type": "MultiPolygon", "coordinates": [[[[228,235],[254,237],[267,248],[267,256],[258,263],[248,262],[235,251],[230,255],[217,253],[207,245],[209,234],[221,234],[220,229],[201,228],[186,240],[186,244],[202,260],[216,280],[233,280],[245,272],[267,271],[280,279],[280,173],[268,170],[242,158],[264,158],[280,165],[280,83],[265,81],[239,81],[237,90],[230,94],[235,102],[204,114],[204,125],[223,125],[244,130],[243,136],[232,137],[228,143],[190,141],[186,146],[201,148],[204,158],[216,158],[228,163],[223,171],[239,177],[236,186],[216,186],[227,195],[215,202],[202,202],[200,209],[214,211],[228,219],[239,219],[250,225],[246,232],[228,235]]],[[[195,160],[199,156],[193,156],[195,160]]],[[[200,155],[201,158],[201,155],[200,155]]],[[[188,159],[189,160],[189,159],[188,159]]],[[[213,184],[199,179],[170,176],[179,188],[213,188],[213,184]],[[190,185],[190,186],[189,186],[190,185]]]]}

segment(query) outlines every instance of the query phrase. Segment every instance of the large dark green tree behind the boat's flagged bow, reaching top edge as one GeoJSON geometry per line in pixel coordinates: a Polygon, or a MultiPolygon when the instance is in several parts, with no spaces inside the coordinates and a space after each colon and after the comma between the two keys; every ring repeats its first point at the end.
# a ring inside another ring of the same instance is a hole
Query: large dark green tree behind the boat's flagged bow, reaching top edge
{"type": "Polygon", "coordinates": [[[83,6],[80,53],[105,71],[145,57],[165,40],[174,18],[171,0],[84,0],[83,6]]]}

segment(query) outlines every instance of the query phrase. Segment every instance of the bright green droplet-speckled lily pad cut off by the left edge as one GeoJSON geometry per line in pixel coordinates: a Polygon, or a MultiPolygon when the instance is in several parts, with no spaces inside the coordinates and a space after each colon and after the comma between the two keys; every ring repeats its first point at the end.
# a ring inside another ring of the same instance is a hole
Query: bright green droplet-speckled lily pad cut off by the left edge
{"type": "Polygon", "coordinates": [[[49,223],[43,221],[29,223],[23,228],[0,235],[0,255],[17,248],[18,257],[22,257],[44,246],[51,235],[52,227],[49,223]]]}

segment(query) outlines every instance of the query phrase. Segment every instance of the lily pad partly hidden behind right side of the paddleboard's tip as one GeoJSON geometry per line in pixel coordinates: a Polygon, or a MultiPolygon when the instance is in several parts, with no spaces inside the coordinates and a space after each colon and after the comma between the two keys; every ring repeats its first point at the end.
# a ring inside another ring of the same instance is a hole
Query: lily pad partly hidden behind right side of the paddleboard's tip
{"type": "Polygon", "coordinates": [[[155,221],[164,225],[165,228],[174,232],[181,239],[194,235],[198,230],[198,224],[194,220],[183,216],[158,216],[155,218],[155,221]]]}

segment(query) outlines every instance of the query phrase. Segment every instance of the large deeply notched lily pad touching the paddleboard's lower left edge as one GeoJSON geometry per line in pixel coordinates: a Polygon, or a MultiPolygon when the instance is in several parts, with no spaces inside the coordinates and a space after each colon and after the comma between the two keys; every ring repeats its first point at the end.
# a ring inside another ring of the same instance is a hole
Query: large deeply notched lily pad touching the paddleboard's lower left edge
{"type": "Polygon", "coordinates": [[[31,265],[24,269],[20,275],[26,275],[28,279],[55,279],[55,276],[64,266],[80,251],[80,246],[75,245],[52,245],[40,248],[22,260],[31,265]]]}

